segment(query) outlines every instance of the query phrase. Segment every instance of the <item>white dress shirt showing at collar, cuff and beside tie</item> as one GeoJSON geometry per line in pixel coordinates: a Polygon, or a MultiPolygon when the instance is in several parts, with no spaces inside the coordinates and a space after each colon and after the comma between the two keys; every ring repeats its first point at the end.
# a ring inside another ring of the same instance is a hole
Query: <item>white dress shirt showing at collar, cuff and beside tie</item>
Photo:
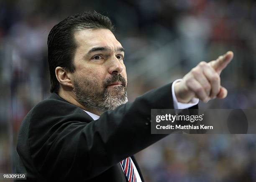
{"type": "MultiPolygon", "coordinates": [[[[174,84],[177,83],[178,81],[181,81],[182,79],[177,79],[175,80],[173,83],[172,83],[172,98],[173,98],[173,105],[174,105],[174,109],[187,109],[189,107],[192,107],[192,106],[195,106],[198,104],[199,102],[199,99],[197,98],[193,98],[188,104],[184,104],[184,103],[180,103],[177,101],[177,98],[175,96],[175,93],[174,93],[174,84]]],[[[85,111],[85,110],[84,110],[85,111]]],[[[85,111],[89,116],[92,117],[93,120],[97,120],[100,118],[100,116],[96,115],[96,114],[93,114],[89,111],[85,111]]],[[[133,160],[131,160],[131,162],[133,163],[133,160]]],[[[121,165],[121,164],[120,164],[121,165]]],[[[123,167],[122,167],[123,169],[123,167]]],[[[133,163],[133,169],[134,169],[134,172],[135,172],[135,176],[136,176],[136,181],[137,182],[141,182],[141,177],[140,175],[138,174],[138,170],[136,169],[136,166],[134,165],[133,163]]]]}

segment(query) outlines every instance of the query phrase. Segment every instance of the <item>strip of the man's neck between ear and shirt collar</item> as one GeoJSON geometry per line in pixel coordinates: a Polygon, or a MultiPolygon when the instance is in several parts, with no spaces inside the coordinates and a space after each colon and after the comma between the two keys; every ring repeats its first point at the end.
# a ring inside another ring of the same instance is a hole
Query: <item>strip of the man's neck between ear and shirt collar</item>
{"type": "Polygon", "coordinates": [[[83,109],[85,111],[89,111],[98,116],[100,116],[102,114],[102,111],[99,111],[97,109],[90,108],[90,107],[84,107],[82,104],[80,104],[77,101],[77,98],[72,91],[64,91],[63,89],[60,88],[58,94],[61,98],[65,99],[66,101],[68,101],[71,104],[74,104],[75,106],[80,107],[81,109],[83,109]]]}

